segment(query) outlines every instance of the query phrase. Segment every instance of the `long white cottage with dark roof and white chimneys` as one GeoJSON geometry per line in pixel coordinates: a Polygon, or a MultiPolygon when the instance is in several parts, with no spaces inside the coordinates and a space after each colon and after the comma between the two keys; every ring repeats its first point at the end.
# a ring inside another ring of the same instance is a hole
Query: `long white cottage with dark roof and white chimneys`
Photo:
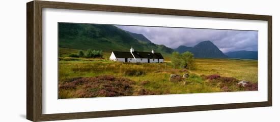
{"type": "Polygon", "coordinates": [[[110,56],[111,61],[132,62],[132,63],[163,63],[164,59],[160,53],[134,51],[130,52],[113,51],[110,56]]]}

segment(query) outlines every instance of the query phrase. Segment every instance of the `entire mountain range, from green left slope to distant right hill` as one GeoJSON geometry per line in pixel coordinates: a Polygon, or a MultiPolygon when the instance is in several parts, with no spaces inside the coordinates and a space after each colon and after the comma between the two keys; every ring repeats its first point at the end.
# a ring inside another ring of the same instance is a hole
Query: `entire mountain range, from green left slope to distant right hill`
{"type": "Polygon", "coordinates": [[[93,49],[105,52],[130,51],[133,47],[136,51],[162,53],[170,55],[177,51],[183,53],[189,51],[196,58],[241,58],[258,59],[258,52],[238,51],[224,54],[209,40],[200,42],[194,47],[179,46],[171,49],[164,45],[157,45],[140,33],[133,33],[120,29],[114,25],[105,24],[77,24],[59,23],[59,47],[71,49],[93,49]]]}

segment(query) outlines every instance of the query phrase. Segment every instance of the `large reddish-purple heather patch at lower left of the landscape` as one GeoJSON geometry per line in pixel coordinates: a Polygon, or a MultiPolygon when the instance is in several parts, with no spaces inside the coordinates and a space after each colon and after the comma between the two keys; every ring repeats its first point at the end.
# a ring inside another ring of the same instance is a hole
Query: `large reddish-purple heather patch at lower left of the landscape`
{"type": "Polygon", "coordinates": [[[103,75],[96,77],[81,77],[61,82],[59,84],[59,90],[76,90],[76,96],[74,97],[130,96],[133,93],[132,85],[135,85],[135,82],[128,78],[103,75]]]}

